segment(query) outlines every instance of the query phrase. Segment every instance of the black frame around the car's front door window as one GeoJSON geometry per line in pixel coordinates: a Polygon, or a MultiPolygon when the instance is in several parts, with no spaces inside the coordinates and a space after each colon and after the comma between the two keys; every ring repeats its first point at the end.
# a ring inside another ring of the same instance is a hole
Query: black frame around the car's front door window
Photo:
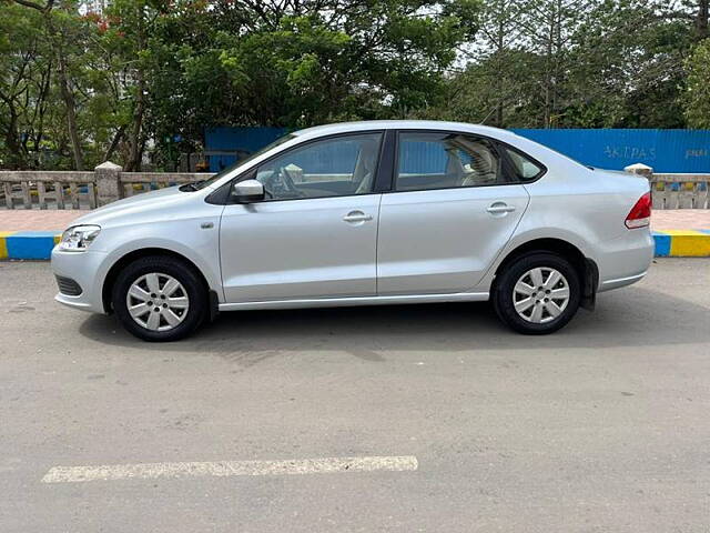
{"type": "Polygon", "coordinates": [[[379,133],[381,139],[379,139],[379,152],[377,153],[377,163],[375,164],[375,179],[373,180],[373,184],[371,185],[371,190],[368,192],[361,193],[361,194],[337,194],[337,195],[308,197],[308,198],[278,198],[278,199],[265,198],[264,200],[260,200],[253,203],[293,202],[295,200],[323,200],[326,198],[351,198],[351,197],[366,197],[368,194],[379,194],[381,191],[377,191],[377,184],[381,182],[381,171],[383,170],[382,162],[384,158],[384,152],[388,148],[388,144],[386,142],[386,137],[388,131],[389,130],[382,129],[382,128],[374,129],[374,130],[362,130],[362,131],[343,131],[339,133],[332,133],[328,135],[316,137],[316,138],[300,142],[298,144],[294,144],[293,147],[288,147],[287,149],[276,152],[273,155],[261,161],[255,167],[252,167],[251,169],[248,169],[245,173],[234,177],[234,179],[230,180],[230,182],[225,183],[220,189],[217,189],[217,191],[215,191],[212,194],[215,197],[213,199],[215,200],[214,203],[221,203],[225,205],[239,204],[239,202],[234,198],[232,198],[232,194],[230,193],[234,184],[241,181],[256,179],[256,173],[258,172],[258,169],[261,167],[273,162],[275,159],[282,155],[286,155],[292,151],[301,150],[303,148],[308,147],[310,144],[315,144],[316,142],[321,142],[321,141],[329,141],[333,139],[339,139],[339,138],[346,138],[346,137],[367,135],[372,133],[379,133]],[[225,189],[225,191],[222,191],[222,189],[225,189]]]}

